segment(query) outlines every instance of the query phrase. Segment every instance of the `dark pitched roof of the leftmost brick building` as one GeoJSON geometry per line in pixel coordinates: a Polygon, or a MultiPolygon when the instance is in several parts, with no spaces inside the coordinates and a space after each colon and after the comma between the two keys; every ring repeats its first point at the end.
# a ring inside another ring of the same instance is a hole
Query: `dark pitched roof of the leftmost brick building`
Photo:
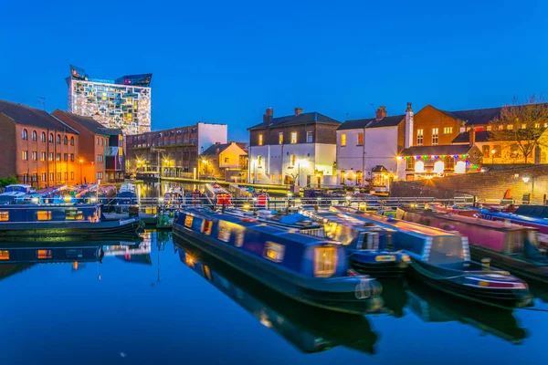
{"type": "Polygon", "coordinates": [[[47,113],[46,110],[30,108],[23,104],[0,100],[0,113],[14,120],[17,124],[44,128],[48,130],[67,130],[69,133],[78,134],[77,130],[47,113]]]}

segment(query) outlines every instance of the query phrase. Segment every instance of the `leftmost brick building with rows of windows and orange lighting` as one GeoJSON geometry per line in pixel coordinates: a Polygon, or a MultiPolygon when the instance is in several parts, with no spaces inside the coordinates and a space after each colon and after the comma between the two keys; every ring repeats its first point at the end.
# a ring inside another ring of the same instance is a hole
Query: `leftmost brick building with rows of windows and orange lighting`
{"type": "Polygon", "coordinates": [[[0,176],[42,188],[79,182],[79,132],[26,105],[0,100],[0,176]]]}

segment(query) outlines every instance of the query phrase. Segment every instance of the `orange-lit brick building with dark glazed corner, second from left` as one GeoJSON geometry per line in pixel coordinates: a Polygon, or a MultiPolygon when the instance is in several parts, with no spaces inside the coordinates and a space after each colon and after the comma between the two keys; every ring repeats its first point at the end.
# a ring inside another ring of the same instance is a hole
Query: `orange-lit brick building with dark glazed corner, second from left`
{"type": "Polygon", "coordinates": [[[54,117],[79,131],[81,182],[119,182],[125,172],[123,134],[120,129],[104,127],[92,117],[83,117],[63,110],[51,113],[54,117]]]}

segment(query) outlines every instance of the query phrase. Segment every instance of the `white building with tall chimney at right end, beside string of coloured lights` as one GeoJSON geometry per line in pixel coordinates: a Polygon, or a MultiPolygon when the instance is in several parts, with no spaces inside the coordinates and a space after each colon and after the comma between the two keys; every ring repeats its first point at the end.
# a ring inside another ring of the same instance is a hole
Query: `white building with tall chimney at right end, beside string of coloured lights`
{"type": "Polygon", "coordinates": [[[372,181],[375,189],[387,189],[397,178],[397,155],[411,141],[411,103],[406,114],[387,117],[385,107],[380,107],[375,118],[346,120],[337,129],[338,183],[365,186],[372,181]]]}

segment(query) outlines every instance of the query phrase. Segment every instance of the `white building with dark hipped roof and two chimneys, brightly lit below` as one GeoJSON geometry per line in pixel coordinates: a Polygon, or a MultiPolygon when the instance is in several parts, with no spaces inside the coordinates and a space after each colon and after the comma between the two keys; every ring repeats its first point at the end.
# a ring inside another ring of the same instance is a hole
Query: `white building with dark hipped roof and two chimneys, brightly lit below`
{"type": "Polygon", "coordinates": [[[336,129],[341,125],[318,112],[274,118],[248,128],[250,183],[323,186],[336,183],[336,129]]]}

